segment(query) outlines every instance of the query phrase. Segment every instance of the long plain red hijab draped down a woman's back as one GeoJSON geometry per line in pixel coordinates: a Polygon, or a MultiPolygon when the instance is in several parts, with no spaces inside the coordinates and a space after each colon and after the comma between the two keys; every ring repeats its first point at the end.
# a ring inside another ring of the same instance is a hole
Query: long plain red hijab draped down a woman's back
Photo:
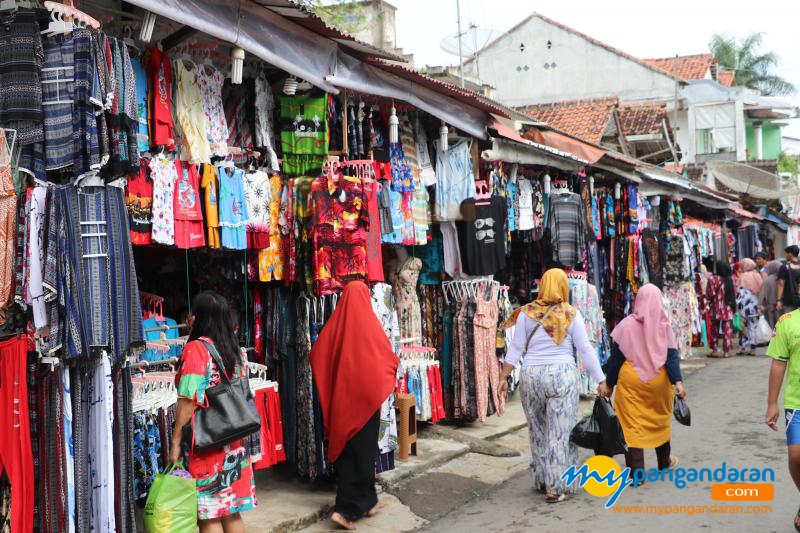
{"type": "Polygon", "coordinates": [[[369,289],[360,281],[348,283],[311,348],[330,462],[392,393],[398,363],[372,311],[369,289]]]}

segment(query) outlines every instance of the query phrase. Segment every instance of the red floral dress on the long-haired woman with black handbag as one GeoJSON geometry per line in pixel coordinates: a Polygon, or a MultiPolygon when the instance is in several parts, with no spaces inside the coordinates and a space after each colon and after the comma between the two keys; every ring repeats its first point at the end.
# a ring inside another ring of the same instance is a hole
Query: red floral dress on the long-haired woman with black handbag
{"type": "MultiPolygon", "coordinates": [[[[214,344],[210,339],[203,339],[214,344]]],[[[231,377],[247,372],[242,355],[231,377]]],[[[220,383],[219,370],[200,341],[186,344],[175,376],[178,396],[193,401],[198,409],[208,407],[205,392],[220,383]]],[[[230,516],[254,508],[256,487],[250,456],[242,441],[234,441],[219,450],[189,451],[189,472],[197,480],[197,518],[208,520],[230,516]]]]}

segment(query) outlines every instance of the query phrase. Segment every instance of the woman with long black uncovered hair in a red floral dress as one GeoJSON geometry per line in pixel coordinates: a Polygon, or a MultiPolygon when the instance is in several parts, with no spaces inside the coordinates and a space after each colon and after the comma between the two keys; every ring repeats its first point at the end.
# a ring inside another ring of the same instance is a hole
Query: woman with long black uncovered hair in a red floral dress
{"type": "MultiPolygon", "coordinates": [[[[175,376],[178,406],[170,450],[173,463],[183,454],[183,427],[191,423],[195,409],[208,407],[206,392],[220,384],[223,373],[229,379],[247,375],[247,359],[234,334],[228,302],[214,292],[201,292],[194,297],[192,311],[189,342],[175,376]],[[212,351],[224,368],[214,362],[212,351]]],[[[254,508],[257,502],[253,467],[242,441],[202,452],[187,445],[188,470],[197,480],[200,533],[243,533],[244,522],[239,513],[254,508]]]]}

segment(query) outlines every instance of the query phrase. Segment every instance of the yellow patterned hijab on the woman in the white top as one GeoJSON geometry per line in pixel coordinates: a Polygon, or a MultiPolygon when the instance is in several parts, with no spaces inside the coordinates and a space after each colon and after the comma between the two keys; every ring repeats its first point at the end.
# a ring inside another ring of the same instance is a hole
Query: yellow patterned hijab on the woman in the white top
{"type": "Polygon", "coordinates": [[[551,268],[545,272],[539,284],[539,297],[514,311],[502,327],[505,329],[516,324],[520,312],[540,323],[554,343],[564,342],[567,329],[575,320],[576,313],[575,308],[569,304],[567,273],[560,268],[551,268]]]}

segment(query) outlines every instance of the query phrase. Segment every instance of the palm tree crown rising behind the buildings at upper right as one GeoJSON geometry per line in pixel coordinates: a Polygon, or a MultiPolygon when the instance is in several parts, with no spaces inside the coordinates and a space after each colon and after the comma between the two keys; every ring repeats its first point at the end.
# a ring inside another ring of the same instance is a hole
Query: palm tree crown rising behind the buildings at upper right
{"type": "Polygon", "coordinates": [[[715,34],[709,48],[721,68],[736,73],[736,84],[756,89],[765,96],[786,95],[795,87],[774,73],[778,56],[774,52],[761,53],[763,33],[751,33],[743,39],[725,34],[715,34]]]}

